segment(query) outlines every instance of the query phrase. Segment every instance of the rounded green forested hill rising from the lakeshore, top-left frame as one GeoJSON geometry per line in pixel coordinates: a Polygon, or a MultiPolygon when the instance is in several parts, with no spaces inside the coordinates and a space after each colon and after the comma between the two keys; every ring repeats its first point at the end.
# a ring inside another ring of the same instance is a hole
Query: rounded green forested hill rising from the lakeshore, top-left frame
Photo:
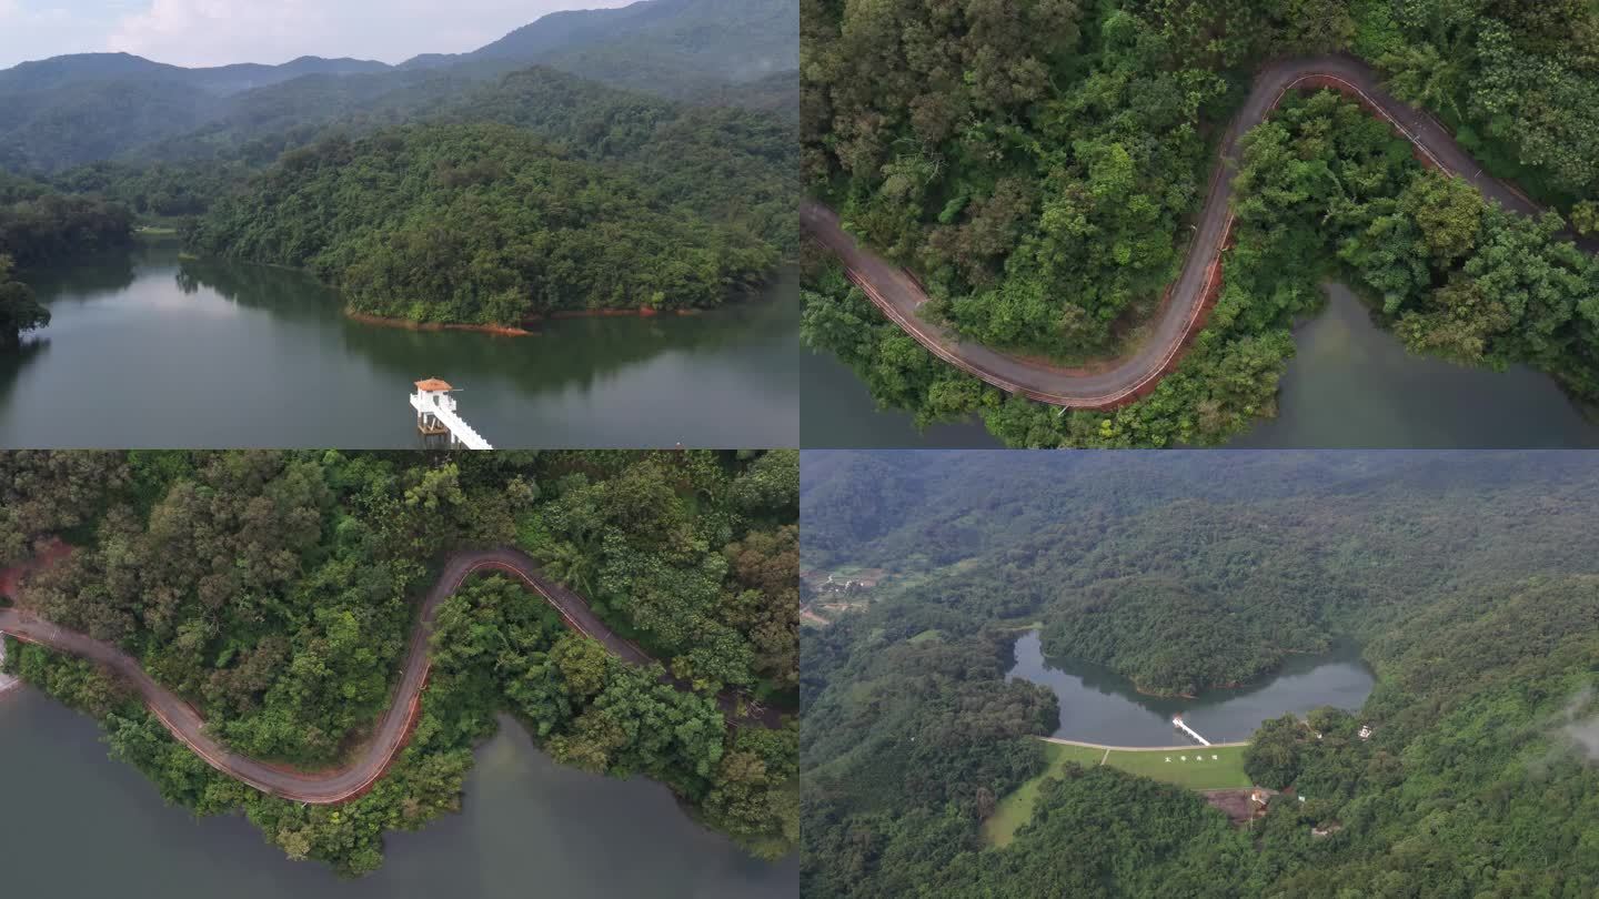
{"type": "Polygon", "coordinates": [[[358,312],[480,325],[716,306],[777,264],[771,246],[660,190],[499,125],[293,150],[214,208],[192,243],[309,267],[358,312]]]}

